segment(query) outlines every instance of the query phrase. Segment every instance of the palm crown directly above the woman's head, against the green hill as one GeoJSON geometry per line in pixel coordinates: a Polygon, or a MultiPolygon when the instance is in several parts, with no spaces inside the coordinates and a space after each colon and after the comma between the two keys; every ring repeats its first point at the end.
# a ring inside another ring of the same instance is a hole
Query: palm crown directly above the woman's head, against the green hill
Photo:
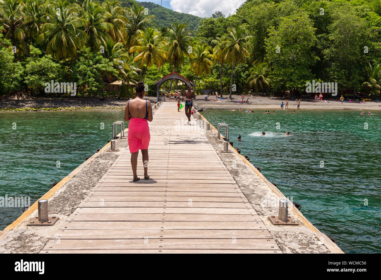
{"type": "Polygon", "coordinates": [[[138,45],[138,35],[154,16],[145,14],[143,6],[134,4],[126,9],[126,18],[130,24],[126,27],[128,39],[125,48],[129,50],[131,46],[138,45]]]}

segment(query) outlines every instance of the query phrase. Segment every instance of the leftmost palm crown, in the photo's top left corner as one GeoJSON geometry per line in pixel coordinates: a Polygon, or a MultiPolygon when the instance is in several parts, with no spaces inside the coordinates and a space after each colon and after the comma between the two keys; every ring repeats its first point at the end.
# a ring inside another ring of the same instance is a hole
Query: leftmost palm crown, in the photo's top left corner
{"type": "Polygon", "coordinates": [[[20,4],[19,0],[0,1],[0,26],[4,27],[4,37],[9,39],[13,46],[25,51],[24,13],[20,4]]]}

